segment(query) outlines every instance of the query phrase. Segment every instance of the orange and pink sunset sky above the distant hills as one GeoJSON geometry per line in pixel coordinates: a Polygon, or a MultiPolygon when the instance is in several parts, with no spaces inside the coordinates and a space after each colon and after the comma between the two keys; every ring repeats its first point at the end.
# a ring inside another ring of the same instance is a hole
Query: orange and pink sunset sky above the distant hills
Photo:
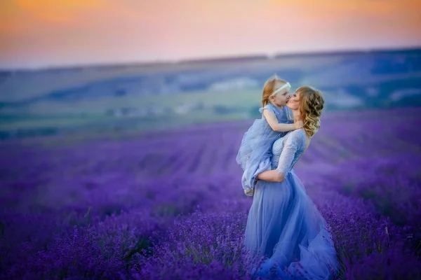
{"type": "Polygon", "coordinates": [[[1,0],[0,68],[421,46],[420,0],[1,0]]]}

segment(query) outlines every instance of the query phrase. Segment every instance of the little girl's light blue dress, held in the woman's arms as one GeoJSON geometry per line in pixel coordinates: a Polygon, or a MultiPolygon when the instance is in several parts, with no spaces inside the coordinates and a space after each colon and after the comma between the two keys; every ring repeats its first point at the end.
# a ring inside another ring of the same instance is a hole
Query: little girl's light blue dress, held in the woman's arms
{"type": "MultiPolygon", "coordinates": [[[[272,111],[279,123],[293,123],[292,112],[287,106],[279,108],[269,103],[259,109],[260,113],[264,109],[272,111]]],[[[262,114],[262,118],[255,120],[244,134],[239,153],[236,156],[236,162],[244,171],[241,185],[246,195],[253,195],[256,174],[270,169],[272,145],[274,141],[285,136],[286,133],[272,130],[262,114]]]]}

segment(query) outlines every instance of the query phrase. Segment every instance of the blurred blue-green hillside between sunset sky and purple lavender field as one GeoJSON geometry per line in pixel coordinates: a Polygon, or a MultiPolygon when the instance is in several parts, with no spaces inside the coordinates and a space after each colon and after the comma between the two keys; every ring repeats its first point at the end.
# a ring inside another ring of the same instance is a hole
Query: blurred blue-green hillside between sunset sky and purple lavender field
{"type": "Polygon", "coordinates": [[[326,113],[416,106],[420,59],[419,50],[403,50],[2,72],[0,138],[250,120],[259,117],[262,85],[274,73],[292,90],[321,89],[326,113]],[[237,87],[236,79],[254,84],[237,87]],[[215,83],[233,84],[215,90],[215,83]]]}

